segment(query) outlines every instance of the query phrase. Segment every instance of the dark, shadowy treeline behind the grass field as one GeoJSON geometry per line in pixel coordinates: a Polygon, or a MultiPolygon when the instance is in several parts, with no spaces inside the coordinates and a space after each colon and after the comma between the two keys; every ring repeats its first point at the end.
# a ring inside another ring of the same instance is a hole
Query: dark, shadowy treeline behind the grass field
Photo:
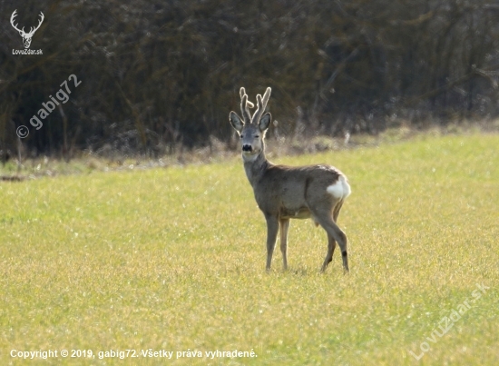
{"type": "Polygon", "coordinates": [[[1,1],[0,150],[158,155],[230,142],[228,116],[272,87],[282,134],[376,134],[499,111],[496,0],[1,1]],[[44,22],[31,49],[13,54],[44,22]],[[82,83],[34,129],[75,74],[82,83]]]}

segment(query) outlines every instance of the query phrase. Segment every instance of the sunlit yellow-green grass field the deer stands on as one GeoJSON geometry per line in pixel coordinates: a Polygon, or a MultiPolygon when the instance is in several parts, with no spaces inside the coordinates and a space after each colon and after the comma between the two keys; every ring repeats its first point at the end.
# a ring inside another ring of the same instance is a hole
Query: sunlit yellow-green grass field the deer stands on
{"type": "Polygon", "coordinates": [[[276,163],[347,174],[349,275],[338,249],[318,273],[327,239],[310,221],[291,222],[289,271],[278,242],[265,272],[239,157],[0,183],[0,364],[497,364],[499,135],[276,163]],[[171,360],[116,352],[150,349],[171,360]],[[258,357],[206,356],[217,350],[258,357]]]}

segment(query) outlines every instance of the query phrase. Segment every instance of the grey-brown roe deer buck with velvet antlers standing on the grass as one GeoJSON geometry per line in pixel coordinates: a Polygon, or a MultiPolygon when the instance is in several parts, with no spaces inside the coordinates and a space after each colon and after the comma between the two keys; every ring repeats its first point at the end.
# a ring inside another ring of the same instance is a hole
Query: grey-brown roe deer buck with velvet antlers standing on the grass
{"type": "Polygon", "coordinates": [[[326,271],[333,260],[338,242],[343,257],[344,272],[348,272],[347,235],[337,225],[339,210],[350,186],[347,177],[330,165],[286,166],[270,163],[265,157],[265,133],[272,116],[263,114],[269,102],[270,88],[263,98],[257,95],[257,110],[251,117],[244,88],[240,88],[242,119],[230,112],[230,124],[240,135],[242,160],[249,183],[253,187],[259,209],[267,220],[267,271],[272,262],[280,226],[280,250],[284,269],[288,268],[289,219],[311,218],[328,233],[328,253],[322,264],[326,271]]]}

